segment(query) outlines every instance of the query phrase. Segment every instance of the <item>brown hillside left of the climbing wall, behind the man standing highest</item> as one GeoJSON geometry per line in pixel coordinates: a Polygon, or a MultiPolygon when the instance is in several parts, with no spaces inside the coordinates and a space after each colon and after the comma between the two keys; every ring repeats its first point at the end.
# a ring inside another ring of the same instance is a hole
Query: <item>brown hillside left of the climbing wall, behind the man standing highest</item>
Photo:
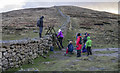
{"type": "Polygon", "coordinates": [[[3,40],[16,40],[38,36],[38,34],[33,33],[33,31],[38,32],[36,23],[41,16],[45,17],[44,27],[51,25],[58,27],[64,22],[64,18],[54,7],[35,9],[30,8],[2,13],[3,40]]]}

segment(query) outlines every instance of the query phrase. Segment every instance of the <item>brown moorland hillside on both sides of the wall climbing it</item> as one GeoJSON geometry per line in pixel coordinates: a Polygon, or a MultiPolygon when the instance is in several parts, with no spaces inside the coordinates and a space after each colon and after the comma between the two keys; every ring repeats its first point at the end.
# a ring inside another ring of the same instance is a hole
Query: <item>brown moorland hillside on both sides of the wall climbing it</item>
{"type": "MultiPolygon", "coordinates": [[[[117,46],[118,15],[75,6],[58,6],[58,8],[63,14],[70,16],[70,30],[74,30],[72,31],[74,36],[67,39],[75,38],[77,32],[82,34],[88,32],[93,43],[98,44],[96,47],[100,46],[99,44],[102,44],[100,47],[104,47],[105,44],[117,46]]],[[[45,16],[45,27],[55,25],[58,29],[66,21],[56,7],[30,8],[2,13],[3,40],[37,37],[38,33],[33,31],[38,30],[36,21],[42,15],[45,16]],[[17,35],[19,37],[14,38],[17,35]]]]}

